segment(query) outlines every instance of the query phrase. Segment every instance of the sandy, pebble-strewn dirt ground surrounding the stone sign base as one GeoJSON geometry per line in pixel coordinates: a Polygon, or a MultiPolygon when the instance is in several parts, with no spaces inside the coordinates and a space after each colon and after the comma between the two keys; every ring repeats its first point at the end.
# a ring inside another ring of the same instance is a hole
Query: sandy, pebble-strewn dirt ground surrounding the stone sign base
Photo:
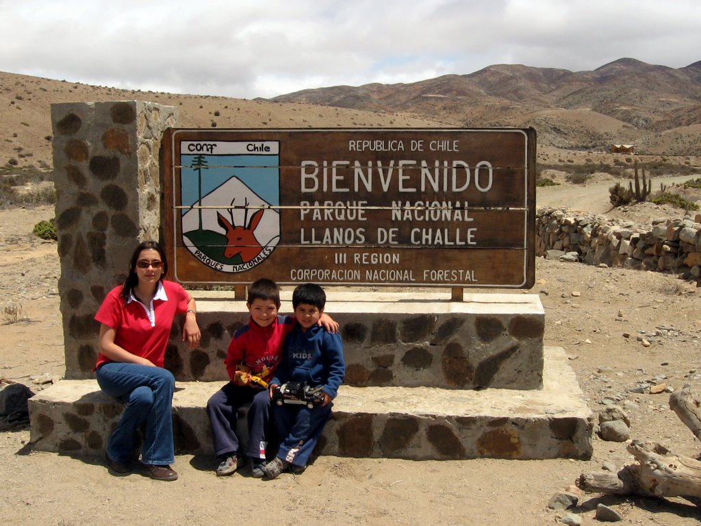
{"type": "MultiPolygon", "coordinates": [[[[539,205],[576,210],[608,208],[606,188],[549,187],[539,205]],[[604,192],[602,197],[601,191],[604,192]],[[602,204],[603,200],[603,204],[602,204]]],[[[592,210],[604,213],[606,210],[592,210]]],[[[665,211],[636,208],[639,222],[665,211]]],[[[625,215],[627,213],[620,213],[625,215]]],[[[681,215],[672,210],[672,215],[681,215]]],[[[0,377],[23,382],[64,372],[58,310],[60,274],[55,243],[32,236],[53,208],[0,210],[0,377]],[[16,323],[9,312],[18,310],[16,323]]],[[[696,457],[701,444],[669,410],[669,394],[634,393],[640,382],[673,389],[701,378],[699,289],[675,276],[590,267],[538,258],[536,287],[545,307],[545,342],[562,346],[595,413],[604,399],[629,402],[632,438],[655,440],[696,457]],[[644,346],[643,337],[651,342],[644,346]]],[[[499,291],[503,292],[503,291],[499,291]]],[[[29,430],[0,432],[0,518],[8,525],[192,525],[275,522],[287,525],[524,525],[558,523],[562,511],[547,503],[580,473],[605,461],[632,463],[625,443],[594,436],[590,461],[405,461],[319,457],[301,476],[262,481],[239,473],[217,478],[210,458],[182,455],[175,483],[143,476],[109,476],[102,459],[32,452],[29,430]]],[[[597,522],[596,504],[615,508],[625,524],[696,525],[700,510],[681,498],[642,499],[581,494],[575,513],[597,522]]]]}

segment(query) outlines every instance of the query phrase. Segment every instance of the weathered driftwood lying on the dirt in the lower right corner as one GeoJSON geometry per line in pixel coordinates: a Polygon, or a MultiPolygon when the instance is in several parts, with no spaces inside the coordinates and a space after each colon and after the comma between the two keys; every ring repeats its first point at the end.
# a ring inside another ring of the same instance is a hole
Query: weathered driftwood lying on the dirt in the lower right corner
{"type": "MultiPolygon", "coordinates": [[[[701,401],[691,386],[673,393],[669,407],[701,438],[701,401]]],[[[585,492],[611,495],[701,497],[701,461],[671,452],[658,443],[632,440],[626,449],[638,464],[625,466],[618,473],[583,473],[576,480],[577,487],[585,492]]]]}

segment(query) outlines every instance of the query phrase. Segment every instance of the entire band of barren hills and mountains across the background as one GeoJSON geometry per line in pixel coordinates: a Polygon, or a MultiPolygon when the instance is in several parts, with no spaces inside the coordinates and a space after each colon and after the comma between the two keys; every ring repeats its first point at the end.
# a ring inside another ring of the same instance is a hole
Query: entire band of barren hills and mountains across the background
{"type": "MultiPolygon", "coordinates": [[[[147,100],[195,128],[533,126],[538,162],[611,165],[611,144],[699,166],[701,62],[674,69],[622,58],[592,72],[493,65],[416,83],[334,86],[243,100],[90,86],[0,72],[0,169],[50,171],[50,104],[147,100]]],[[[629,163],[630,161],[626,161],[629,163]]]]}

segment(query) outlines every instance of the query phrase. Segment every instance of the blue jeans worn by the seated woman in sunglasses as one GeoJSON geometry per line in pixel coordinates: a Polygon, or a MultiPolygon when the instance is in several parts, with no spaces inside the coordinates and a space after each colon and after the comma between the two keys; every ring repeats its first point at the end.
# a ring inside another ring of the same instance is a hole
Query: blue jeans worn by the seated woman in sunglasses
{"type": "Polygon", "coordinates": [[[172,464],[175,461],[171,411],[175,378],[172,373],[161,367],[108,362],[100,365],[95,376],[104,393],[126,403],[107,441],[109,458],[130,461],[136,431],[145,423],[141,461],[156,466],[172,464]]]}

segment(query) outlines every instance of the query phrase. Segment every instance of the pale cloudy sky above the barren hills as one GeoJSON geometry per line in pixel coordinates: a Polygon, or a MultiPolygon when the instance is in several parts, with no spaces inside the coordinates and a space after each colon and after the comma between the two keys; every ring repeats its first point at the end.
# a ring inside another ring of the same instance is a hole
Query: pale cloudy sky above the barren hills
{"type": "Polygon", "coordinates": [[[701,60],[698,0],[0,0],[0,21],[4,72],[239,98],[701,60]]]}

